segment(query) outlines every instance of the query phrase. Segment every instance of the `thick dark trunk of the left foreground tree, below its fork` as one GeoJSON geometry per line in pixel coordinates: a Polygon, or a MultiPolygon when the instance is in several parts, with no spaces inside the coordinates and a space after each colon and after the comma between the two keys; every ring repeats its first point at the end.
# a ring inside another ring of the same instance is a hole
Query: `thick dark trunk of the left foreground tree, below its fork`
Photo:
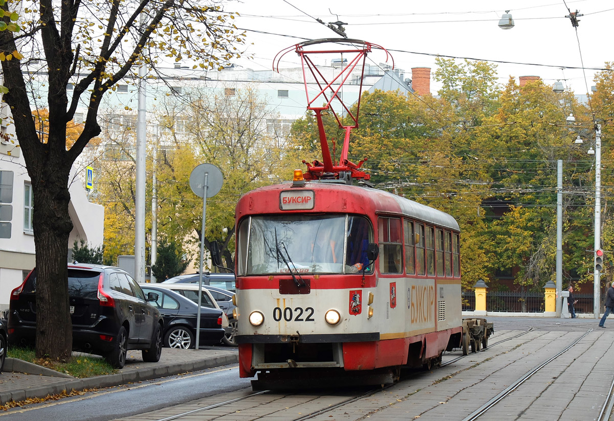
{"type": "Polygon", "coordinates": [[[58,170],[66,164],[39,164],[28,166],[28,170],[33,169],[30,173],[36,246],[36,356],[66,360],[72,351],[67,282],[68,236],[72,230],[68,213],[69,169],[58,170]]]}

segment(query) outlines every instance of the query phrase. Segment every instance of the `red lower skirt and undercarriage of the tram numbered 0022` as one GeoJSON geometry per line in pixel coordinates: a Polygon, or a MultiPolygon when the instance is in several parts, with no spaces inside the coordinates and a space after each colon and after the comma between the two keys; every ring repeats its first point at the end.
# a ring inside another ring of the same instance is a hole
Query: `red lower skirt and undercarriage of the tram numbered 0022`
{"type": "Polygon", "coordinates": [[[242,377],[257,373],[254,390],[391,384],[402,369],[441,365],[443,351],[459,347],[461,335],[459,329],[362,343],[241,344],[241,361],[251,361],[241,366],[242,377]]]}

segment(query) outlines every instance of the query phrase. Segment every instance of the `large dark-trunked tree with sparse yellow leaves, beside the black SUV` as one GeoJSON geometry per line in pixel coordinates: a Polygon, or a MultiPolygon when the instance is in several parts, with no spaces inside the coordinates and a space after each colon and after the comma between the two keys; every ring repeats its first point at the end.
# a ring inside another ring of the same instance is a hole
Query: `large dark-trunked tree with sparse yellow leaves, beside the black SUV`
{"type": "MultiPolygon", "coordinates": [[[[2,7],[9,10],[8,6],[4,3],[2,7]]],[[[8,28],[15,24],[13,15],[5,12],[0,21],[8,28]]],[[[9,88],[3,99],[12,112],[33,188],[38,357],[64,359],[71,354],[66,268],[72,229],[69,172],[88,142],[101,132],[97,115],[104,93],[130,75],[134,66],[150,66],[155,71],[161,56],[192,61],[195,68],[222,67],[236,55],[235,45],[243,42],[243,34],[231,24],[233,17],[214,1],[55,4],[37,0],[23,9],[23,32],[0,31],[0,57],[5,58],[2,72],[9,88]],[[26,69],[33,61],[22,61],[23,56],[15,53],[17,39],[41,56],[37,63],[45,63],[36,78],[26,69]],[[46,139],[40,137],[31,116],[29,93],[38,91],[29,86],[34,80],[47,88],[46,139]],[[67,124],[80,102],[88,106],[85,124],[76,142],[67,148],[67,124]]]]}

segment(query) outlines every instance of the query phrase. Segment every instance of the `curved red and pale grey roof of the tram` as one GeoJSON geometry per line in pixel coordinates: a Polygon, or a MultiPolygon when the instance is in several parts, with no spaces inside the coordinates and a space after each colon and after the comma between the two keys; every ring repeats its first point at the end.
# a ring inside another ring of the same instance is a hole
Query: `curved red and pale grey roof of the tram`
{"type": "MultiPolygon", "coordinates": [[[[292,183],[274,184],[273,186],[265,186],[255,189],[239,199],[237,210],[239,210],[241,207],[241,202],[247,196],[251,196],[252,194],[279,195],[280,191],[288,190],[290,188],[292,188],[292,183]]],[[[450,214],[383,190],[362,186],[349,186],[348,184],[344,183],[328,183],[322,181],[308,181],[301,189],[313,190],[316,193],[317,191],[329,191],[332,193],[335,190],[339,193],[346,192],[347,197],[354,197],[354,202],[360,203],[361,208],[365,210],[371,210],[375,213],[403,214],[410,218],[429,222],[430,224],[437,226],[446,227],[457,231],[460,230],[458,222],[456,222],[456,219],[454,219],[450,214]]],[[[271,203],[268,200],[266,202],[271,203]]],[[[335,202],[338,203],[338,201],[335,202]]],[[[338,207],[338,204],[336,206],[338,207]]],[[[331,203],[330,207],[330,211],[335,211],[332,209],[332,207],[335,207],[335,203],[331,203]]],[[[322,209],[319,208],[318,211],[322,211],[322,209]]],[[[348,211],[350,211],[349,208],[348,211]]],[[[252,212],[248,213],[253,214],[252,212]]],[[[260,212],[255,211],[255,213],[260,212]]]]}

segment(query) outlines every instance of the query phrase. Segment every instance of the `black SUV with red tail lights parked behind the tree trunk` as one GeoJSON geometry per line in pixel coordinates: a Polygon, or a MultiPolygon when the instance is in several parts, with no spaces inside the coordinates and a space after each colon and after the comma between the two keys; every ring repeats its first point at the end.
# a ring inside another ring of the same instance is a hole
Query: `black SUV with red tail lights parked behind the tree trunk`
{"type": "MultiPolygon", "coordinates": [[[[162,318],[141,287],[125,270],[112,266],[68,265],[72,347],[103,355],[122,368],[126,352],[142,349],[143,360],[157,362],[162,350],[162,318]]],[[[9,343],[34,344],[36,339],[36,269],[10,294],[9,343]]]]}

